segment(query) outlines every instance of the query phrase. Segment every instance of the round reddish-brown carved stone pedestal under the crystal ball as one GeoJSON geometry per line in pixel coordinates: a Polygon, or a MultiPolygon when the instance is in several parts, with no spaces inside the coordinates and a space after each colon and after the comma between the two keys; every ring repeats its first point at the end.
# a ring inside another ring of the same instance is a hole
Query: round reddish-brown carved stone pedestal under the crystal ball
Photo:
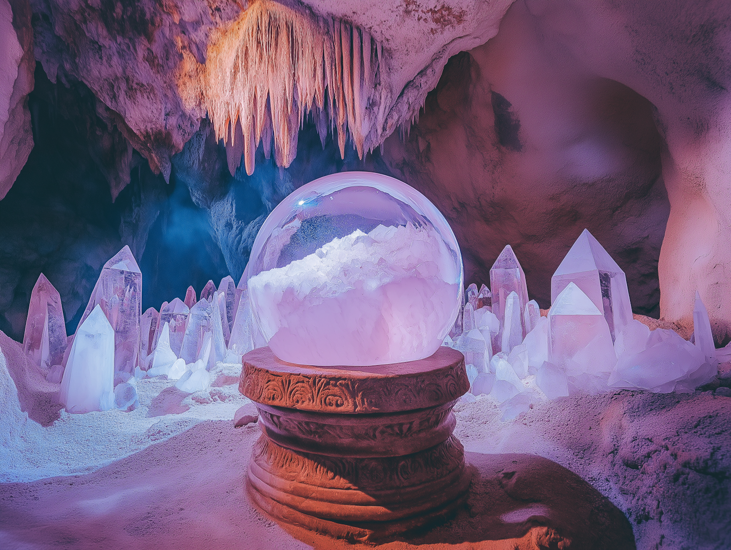
{"type": "Polygon", "coordinates": [[[284,522],[353,540],[420,527],[469,486],[452,407],[469,389],[459,351],[375,367],[308,367],[269,348],[243,356],[240,391],[262,437],[248,491],[284,522]]]}

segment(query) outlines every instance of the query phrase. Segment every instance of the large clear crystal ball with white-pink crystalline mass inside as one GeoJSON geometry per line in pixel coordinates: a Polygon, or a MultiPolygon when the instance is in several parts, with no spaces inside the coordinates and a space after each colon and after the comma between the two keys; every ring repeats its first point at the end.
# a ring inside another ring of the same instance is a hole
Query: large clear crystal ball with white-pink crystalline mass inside
{"type": "Polygon", "coordinates": [[[270,213],[246,267],[279,359],[367,366],[431,356],[461,307],[459,245],[416,189],[371,172],[314,180],[270,213]]]}

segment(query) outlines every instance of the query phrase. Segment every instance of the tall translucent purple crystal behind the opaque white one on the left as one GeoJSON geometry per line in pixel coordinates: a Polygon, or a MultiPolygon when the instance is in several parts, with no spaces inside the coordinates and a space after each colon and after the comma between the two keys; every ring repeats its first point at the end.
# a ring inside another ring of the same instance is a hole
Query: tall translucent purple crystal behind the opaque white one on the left
{"type": "Polygon", "coordinates": [[[129,246],[124,246],[102,267],[79,326],[99,305],[115,334],[114,368],[132,373],[140,356],[142,273],[129,246]]]}

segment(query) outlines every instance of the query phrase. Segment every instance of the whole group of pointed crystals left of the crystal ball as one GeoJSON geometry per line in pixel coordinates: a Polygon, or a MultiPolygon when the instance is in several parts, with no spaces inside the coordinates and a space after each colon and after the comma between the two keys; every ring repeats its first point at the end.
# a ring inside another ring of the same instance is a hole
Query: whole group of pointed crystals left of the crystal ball
{"type": "Polygon", "coordinates": [[[69,413],[137,408],[137,380],[165,375],[183,392],[208,388],[216,362],[235,361],[265,345],[253,328],[246,280],[209,281],[196,302],[164,302],[140,314],[142,274],[124,247],[107,261],[74,335],[67,338],[61,298],[44,275],[31,294],[23,337],[29,359],[61,384],[69,413]],[[205,297],[208,297],[206,299],[205,297]],[[189,305],[190,304],[190,305],[189,305]]]}

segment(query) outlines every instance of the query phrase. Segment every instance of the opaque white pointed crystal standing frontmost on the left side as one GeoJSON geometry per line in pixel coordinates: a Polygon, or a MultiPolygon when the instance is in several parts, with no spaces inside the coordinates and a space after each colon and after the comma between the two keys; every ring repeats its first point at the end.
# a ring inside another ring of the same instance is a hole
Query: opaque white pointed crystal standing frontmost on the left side
{"type": "Polygon", "coordinates": [[[58,399],[69,413],[114,407],[115,332],[100,305],[76,331],[58,399]]]}

